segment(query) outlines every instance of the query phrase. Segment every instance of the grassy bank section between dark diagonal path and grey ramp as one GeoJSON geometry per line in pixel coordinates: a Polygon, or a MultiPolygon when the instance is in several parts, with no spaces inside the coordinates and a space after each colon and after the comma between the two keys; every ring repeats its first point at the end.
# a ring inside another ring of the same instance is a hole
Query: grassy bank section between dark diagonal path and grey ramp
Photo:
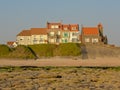
{"type": "Polygon", "coordinates": [[[76,43],[65,43],[60,45],[41,44],[29,46],[38,57],[53,56],[79,56],[81,54],[80,45],[76,43]]]}

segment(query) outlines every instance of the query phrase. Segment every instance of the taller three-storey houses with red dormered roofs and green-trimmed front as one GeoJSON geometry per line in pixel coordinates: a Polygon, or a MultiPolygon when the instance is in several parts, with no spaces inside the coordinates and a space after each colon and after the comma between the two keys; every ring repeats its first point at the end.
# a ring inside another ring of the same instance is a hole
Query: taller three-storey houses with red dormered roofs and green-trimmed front
{"type": "Polygon", "coordinates": [[[78,24],[47,23],[49,43],[69,43],[79,41],[78,24]]]}

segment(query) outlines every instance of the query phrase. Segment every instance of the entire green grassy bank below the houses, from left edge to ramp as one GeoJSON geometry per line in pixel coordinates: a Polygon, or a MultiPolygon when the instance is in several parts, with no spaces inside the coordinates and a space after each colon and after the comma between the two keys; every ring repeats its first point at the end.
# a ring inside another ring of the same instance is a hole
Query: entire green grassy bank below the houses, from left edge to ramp
{"type": "Polygon", "coordinates": [[[53,56],[79,56],[81,55],[80,46],[76,43],[19,45],[16,48],[0,45],[0,58],[36,59],[53,56]]]}

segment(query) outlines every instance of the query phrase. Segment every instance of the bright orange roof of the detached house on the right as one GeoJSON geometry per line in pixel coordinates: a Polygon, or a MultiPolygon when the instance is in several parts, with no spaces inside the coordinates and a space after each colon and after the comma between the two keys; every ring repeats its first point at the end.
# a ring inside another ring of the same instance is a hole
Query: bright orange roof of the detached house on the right
{"type": "Polygon", "coordinates": [[[97,27],[83,27],[82,33],[84,35],[98,35],[99,31],[97,27]]]}

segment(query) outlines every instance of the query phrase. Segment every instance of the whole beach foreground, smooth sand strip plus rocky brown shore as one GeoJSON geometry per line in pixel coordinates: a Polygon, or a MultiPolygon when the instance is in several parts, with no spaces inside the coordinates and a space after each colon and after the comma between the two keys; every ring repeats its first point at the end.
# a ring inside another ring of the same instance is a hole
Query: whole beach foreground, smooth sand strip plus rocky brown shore
{"type": "Polygon", "coordinates": [[[0,90],[120,90],[120,71],[102,67],[120,66],[118,58],[1,59],[0,66],[39,66],[37,69],[24,67],[21,70],[14,69],[16,67],[1,68],[0,90]],[[42,66],[61,67],[43,68],[42,66]],[[100,66],[101,68],[62,66],[100,66]]]}

